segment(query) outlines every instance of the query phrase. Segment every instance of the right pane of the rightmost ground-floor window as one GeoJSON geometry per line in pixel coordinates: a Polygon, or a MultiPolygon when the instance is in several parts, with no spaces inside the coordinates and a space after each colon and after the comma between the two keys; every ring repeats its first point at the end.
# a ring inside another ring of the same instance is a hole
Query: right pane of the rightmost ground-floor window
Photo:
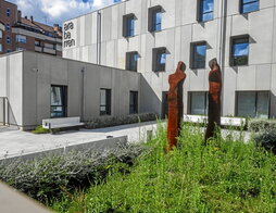
{"type": "Polygon", "coordinates": [[[258,92],[256,117],[268,118],[269,92],[258,92]]]}

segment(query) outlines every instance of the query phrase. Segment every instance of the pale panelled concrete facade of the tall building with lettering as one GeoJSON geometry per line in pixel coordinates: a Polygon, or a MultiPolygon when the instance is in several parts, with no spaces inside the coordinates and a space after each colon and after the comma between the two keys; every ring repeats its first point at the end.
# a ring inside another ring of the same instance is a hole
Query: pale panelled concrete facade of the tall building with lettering
{"type": "MultiPolygon", "coordinates": [[[[223,0],[214,0],[214,18],[197,22],[195,0],[129,0],[87,15],[74,18],[76,46],[63,49],[63,57],[102,65],[125,68],[125,54],[138,51],[138,72],[142,73],[143,86],[151,88],[153,99],[142,92],[142,111],[161,113],[162,91],[168,90],[167,77],[179,60],[189,67],[190,43],[206,41],[206,61],[217,58],[223,64],[223,114],[235,114],[237,90],[271,90],[271,115],[276,115],[276,7],[275,0],[261,0],[260,10],[248,15],[239,14],[239,0],[225,1],[226,21],[222,14],[223,0]],[[148,32],[148,9],[162,5],[162,30],[148,32]],[[122,37],[123,15],[136,16],[135,36],[122,37]],[[97,23],[101,23],[98,25],[97,23]],[[223,27],[225,23],[225,28],[223,27]],[[230,37],[250,35],[249,65],[230,67],[230,37]],[[225,35],[225,37],[224,37],[225,35]],[[224,42],[225,38],[225,42],[224,42]],[[152,72],[152,49],[166,47],[166,71],[152,72]],[[225,55],[225,57],[223,57],[225,55]],[[260,80],[261,79],[261,80],[260,80]]],[[[187,70],[184,92],[184,112],[188,112],[188,91],[206,91],[209,68],[187,70]]]]}

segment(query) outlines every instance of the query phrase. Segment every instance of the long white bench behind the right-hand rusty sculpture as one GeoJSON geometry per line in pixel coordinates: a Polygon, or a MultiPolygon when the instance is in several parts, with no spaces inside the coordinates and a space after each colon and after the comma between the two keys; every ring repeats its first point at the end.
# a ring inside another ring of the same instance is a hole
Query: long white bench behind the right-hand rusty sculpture
{"type": "MultiPolygon", "coordinates": [[[[208,116],[203,115],[184,115],[184,122],[190,123],[208,123],[208,116]]],[[[222,126],[246,126],[246,118],[240,117],[221,117],[222,126]]]]}

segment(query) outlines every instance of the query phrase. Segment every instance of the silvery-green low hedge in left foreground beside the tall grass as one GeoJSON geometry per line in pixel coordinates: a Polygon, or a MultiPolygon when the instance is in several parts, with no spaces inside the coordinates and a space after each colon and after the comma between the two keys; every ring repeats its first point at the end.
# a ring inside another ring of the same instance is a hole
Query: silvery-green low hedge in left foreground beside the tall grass
{"type": "Polygon", "coordinates": [[[0,162],[0,179],[41,202],[63,191],[86,188],[105,178],[114,163],[131,165],[141,153],[139,146],[126,146],[96,153],[70,152],[34,161],[0,162]]]}

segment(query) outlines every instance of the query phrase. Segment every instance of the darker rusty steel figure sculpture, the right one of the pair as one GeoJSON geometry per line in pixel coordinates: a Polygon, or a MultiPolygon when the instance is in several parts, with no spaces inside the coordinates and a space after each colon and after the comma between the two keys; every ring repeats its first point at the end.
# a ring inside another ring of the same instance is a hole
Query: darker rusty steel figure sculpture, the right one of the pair
{"type": "Polygon", "coordinates": [[[221,126],[222,73],[216,59],[212,59],[209,62],[209,66],[211,71],[209,73],[209,108],[205,142],[214,136],[215,127],[221,126]]]}

